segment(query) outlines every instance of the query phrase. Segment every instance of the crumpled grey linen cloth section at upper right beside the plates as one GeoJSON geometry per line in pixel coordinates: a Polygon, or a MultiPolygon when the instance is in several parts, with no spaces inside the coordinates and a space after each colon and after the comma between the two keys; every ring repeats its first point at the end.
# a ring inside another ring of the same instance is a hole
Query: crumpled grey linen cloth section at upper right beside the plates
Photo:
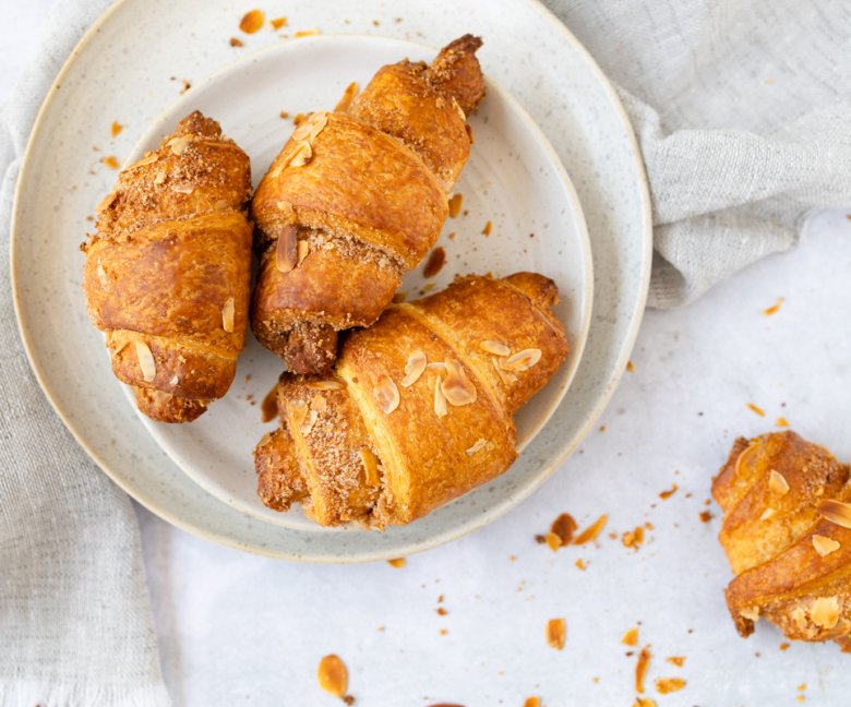
{"type": "Polygon", "coordinates": [[[851,204],[851,3],[548,0],[615,82],[654,206],[650,307],[690,302],[851,204]]]}

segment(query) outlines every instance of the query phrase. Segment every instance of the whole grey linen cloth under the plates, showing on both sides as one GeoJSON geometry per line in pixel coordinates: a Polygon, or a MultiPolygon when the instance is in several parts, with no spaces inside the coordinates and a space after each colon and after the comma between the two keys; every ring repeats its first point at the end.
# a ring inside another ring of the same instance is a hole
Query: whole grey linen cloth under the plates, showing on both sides
{"type": "MultiPolygon", "coordinates": [[[[9,219],[49,83],[106,0],[62,0],[0,115],[0,705],[166,705],[127,496],[50,410],[14,325],[9,219]]],[[[618,84],[650,182],[650,304],[693,300],[851,203],[851,7],[548,0],[618,84]]]]}

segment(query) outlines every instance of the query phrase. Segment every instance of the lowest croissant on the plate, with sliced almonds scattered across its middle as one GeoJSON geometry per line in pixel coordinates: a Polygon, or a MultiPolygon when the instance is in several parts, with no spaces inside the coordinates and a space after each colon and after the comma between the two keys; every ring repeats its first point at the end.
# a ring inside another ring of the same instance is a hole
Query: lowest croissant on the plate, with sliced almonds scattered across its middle
{"type": "Polygon", "coordinates": [[[381,528],[505,471],[513,414],[567,355],[556,301],[534,273],[459,278],[350,334],[329,376],[281,375],[280,428],[254,452],[263,502],[381,528]]]}

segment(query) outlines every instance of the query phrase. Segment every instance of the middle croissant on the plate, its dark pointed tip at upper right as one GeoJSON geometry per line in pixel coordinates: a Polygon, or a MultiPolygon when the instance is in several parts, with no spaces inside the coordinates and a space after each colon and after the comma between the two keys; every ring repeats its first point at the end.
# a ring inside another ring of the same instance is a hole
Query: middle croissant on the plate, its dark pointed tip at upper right
{"type": "Polygon", "coordinates": [[[299,124],[260,182],[251,324],[290,371],[326,373],[337,332],[372,324],[436,241],[484,95],[480,46],[467,35],[431,65],[383,67],[299,124]]]}

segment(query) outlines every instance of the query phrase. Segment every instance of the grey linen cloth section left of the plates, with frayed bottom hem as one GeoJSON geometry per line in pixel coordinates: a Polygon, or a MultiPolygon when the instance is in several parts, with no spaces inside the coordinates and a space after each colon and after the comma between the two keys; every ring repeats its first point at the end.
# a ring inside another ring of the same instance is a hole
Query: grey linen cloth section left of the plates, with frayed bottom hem
{"type": "Polygon", "coordinates": [[[0,119],[0,705],[168,705],[128,496],[76,445],[33,378],[9,284],[12,194],[35,115],[107,3],[64,2],[0,119]]]}

